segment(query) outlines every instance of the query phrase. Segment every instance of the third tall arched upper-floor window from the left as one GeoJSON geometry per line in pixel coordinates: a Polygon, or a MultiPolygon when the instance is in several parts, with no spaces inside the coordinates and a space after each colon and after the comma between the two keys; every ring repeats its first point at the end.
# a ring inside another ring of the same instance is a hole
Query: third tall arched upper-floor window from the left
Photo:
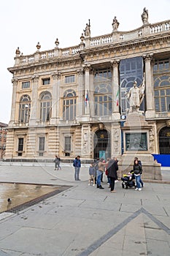
{"type": "Polygon", "coordinates": [[[76,117],[76,93],[69,89],[63,94],[63,120],[74,120],[76,117]]]}

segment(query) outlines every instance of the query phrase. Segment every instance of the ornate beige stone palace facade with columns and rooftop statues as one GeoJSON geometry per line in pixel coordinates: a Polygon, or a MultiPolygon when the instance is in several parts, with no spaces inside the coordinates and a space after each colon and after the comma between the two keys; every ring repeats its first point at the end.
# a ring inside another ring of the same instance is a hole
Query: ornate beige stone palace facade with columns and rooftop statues
{"type": "Polygon", "coordinates": [[[16,50],[12,73],[12,110],[7,159],[121,158],[123,125],[129,102],[125,94],[145,78],[140,112],[150,126],[148,150],[170,154],[170,20],[90,35],[90,20],[80,44],[24,56],[16,50]]]}

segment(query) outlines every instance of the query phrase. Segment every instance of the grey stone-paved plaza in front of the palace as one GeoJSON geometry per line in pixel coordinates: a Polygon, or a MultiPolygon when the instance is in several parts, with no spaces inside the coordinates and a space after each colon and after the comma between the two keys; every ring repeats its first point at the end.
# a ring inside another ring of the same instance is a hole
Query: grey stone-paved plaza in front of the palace
{"type": "Polygon", "coordinates": [[[104,189],[88,186],[88,165],[81,181],[74,181],[71,164],[61,167],[0,162],[0,186],[69,186],[22,211],[0,214],[0,256],[170,255],[170,168],[162,167],[163,181],[145,181],[141,192],[119,181],[110,193],[106,176],[104,189]]]}

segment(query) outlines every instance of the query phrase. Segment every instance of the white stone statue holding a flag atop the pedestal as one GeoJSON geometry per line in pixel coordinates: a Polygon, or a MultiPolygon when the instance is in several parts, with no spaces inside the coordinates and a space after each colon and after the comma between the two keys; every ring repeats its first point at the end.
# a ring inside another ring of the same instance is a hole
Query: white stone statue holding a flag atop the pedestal
{"type": "Polygon", "coordinates": [[[144,99],[144,79],[139,87],[137,86],[137,82],[134,81],[134,86],[131,87],[131,89],[125,93],[125,96],[129,100],[129,113],[135,111],[138,112],[142,100],[144,99]]]}

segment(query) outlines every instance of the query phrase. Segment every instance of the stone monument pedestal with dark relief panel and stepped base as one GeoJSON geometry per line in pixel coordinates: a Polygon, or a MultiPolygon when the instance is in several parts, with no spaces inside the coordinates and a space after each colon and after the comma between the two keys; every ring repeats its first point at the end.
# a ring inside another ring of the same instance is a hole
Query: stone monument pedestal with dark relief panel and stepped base
{"type": "Polygon", "coordinates": [[[142,162],[142,179],[162,180],[161,164],[150,153],[149,130],[152,128],[140,112],[129,113],[123,130],[124,153],[119,162],[118,176],[133,169],[134,157],[142,162]]]}

